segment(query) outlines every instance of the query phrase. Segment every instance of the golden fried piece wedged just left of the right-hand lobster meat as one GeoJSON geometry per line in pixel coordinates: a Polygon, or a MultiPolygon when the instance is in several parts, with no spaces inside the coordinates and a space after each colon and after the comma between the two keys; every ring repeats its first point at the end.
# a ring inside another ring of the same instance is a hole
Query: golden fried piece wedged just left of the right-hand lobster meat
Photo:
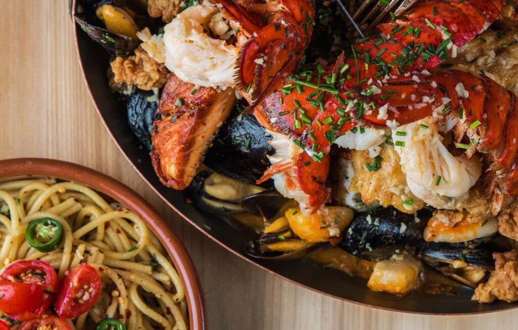
{"type": "Polygon", "coordinates": [[[415,197],[407,185],[407,177],[401,170],[399,155],[394,148],[382,144],[378,170],[370,170],[373,162],[368,151],[351,151],[354,165],[354,176],[349,190],[358,191],[365,204],[378,202],[382,206],[392,205],[401,212],[415,213],[425,206],[425,203],[415,197]],[[412,202],[410,202],[412,201],[412,202]]]}

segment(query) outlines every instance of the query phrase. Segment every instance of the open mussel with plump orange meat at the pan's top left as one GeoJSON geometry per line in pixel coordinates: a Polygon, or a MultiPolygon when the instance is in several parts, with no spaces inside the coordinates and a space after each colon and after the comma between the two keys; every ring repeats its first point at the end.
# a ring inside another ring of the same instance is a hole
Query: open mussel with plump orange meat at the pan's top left
{"type": "Polygon", "coordinates": [[[78,1],[75,20],[90,38],[112,55],[127,56],[140,44],[136,13],[122,3],[78,1]]]}

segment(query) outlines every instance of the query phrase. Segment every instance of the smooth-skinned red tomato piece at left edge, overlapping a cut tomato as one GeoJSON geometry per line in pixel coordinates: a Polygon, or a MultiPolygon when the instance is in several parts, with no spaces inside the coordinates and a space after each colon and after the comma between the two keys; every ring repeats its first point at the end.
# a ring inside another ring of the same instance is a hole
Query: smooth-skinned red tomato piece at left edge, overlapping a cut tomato
{"type": "Polygon", "coordinates": [[[35,310],[43,303],[43,287],[34,283],[0,283],[0,310],[18,314],[35,310]]]}

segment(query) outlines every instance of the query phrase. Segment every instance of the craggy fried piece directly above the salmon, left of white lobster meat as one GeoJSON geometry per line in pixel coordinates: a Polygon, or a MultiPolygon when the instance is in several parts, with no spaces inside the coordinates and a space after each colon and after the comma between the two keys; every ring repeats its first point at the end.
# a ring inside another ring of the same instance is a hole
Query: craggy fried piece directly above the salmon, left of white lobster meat
{"type": "Polygon", "coordinates": [[[169,74],[164,64],[156,62],[141,47],[135,49],[135,55],[114,59],[111,70],[116,83],[136,85],[145,91],[164,86],[169,74]]]}

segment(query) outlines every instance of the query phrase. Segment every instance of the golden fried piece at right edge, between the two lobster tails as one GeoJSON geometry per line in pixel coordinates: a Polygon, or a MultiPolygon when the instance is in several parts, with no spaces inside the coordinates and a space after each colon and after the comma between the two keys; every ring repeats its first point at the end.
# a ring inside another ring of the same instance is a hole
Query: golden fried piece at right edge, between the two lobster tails
{"type": "Polygon", "coordinates": [[[510,91],[518,93],[518,31],[499,32],[488,29],[458,51],[458,69],[490,73],[495,80],[510,91]],[[478,69],[477,69],[478,68],[478,69]]]}

